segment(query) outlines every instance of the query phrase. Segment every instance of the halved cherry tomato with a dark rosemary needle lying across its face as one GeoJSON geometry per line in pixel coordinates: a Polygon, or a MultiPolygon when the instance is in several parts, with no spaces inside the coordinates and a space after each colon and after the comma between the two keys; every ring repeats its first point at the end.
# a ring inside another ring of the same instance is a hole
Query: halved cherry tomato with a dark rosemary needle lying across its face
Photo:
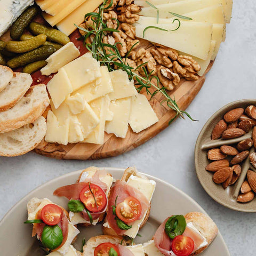
{"type": "Polygon", "coordinates": [[[90,212],[101,212],[107,204],[107,197],[104,190],[94,184],[90,184],[90,187],[88,184],[82,189],[80,193],[80,200],[90,212]]]}

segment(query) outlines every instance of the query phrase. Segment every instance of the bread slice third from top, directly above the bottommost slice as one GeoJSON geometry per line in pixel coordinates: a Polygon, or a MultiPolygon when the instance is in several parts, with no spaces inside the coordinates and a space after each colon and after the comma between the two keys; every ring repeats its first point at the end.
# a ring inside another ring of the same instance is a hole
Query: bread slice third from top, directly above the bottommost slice
{"type": "Polygon", "coordinates": [[[49,106],[50,100],[44,84],[31,86],[11,109],[0,112],[0,133],[9,132],[33,123],[49,106]]]}

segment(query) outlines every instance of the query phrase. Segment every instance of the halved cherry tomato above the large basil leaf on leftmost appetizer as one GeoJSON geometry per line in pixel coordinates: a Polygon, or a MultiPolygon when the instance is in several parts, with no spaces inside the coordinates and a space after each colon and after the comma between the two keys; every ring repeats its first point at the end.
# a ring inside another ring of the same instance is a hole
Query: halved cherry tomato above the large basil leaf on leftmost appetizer
{"type": "Polygon", "coordinates": [[[58,205],[46,204],[41,210],[43,222],[49,226],[57,225],[60,222],[62,210],[58,205]]]}

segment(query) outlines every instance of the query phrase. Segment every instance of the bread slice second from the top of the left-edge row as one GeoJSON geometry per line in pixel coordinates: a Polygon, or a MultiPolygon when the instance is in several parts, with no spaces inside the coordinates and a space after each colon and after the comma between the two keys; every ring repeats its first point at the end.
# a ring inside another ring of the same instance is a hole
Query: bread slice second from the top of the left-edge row
{"type": "Polygon", "coordinates": [[[13,73],[10,83],[0,92],[0,111],[12,108],[29,89],[33,79],[27,73],[13,73]]]}

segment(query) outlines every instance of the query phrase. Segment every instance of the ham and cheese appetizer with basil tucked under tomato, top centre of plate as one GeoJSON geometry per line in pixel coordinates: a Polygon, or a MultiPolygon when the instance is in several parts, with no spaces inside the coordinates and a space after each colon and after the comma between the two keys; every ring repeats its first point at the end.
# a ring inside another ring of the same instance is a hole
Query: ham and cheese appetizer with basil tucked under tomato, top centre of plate
{"type": "Polygon", "coordinates": [[[148,220],[155,186],[154,180],[139,174],[134,167],[126,169],[110,190],[103,233],[134,238],[148,220]]]}

